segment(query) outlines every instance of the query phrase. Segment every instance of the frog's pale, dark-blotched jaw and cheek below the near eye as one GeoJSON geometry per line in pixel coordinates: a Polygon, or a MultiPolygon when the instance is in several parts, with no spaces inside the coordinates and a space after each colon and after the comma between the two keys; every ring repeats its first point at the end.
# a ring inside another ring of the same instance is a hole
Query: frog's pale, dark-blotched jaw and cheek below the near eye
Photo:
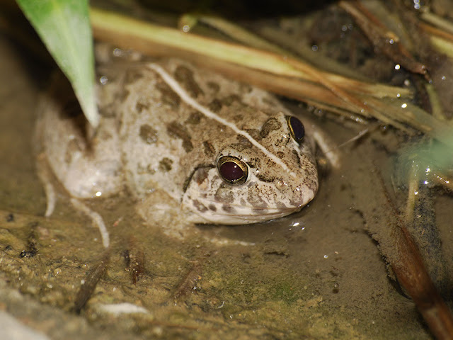
{"type": "Polygon", "coordinates": [[[223,182],[219,184],[219,175],[212,168],[210,164],[200,164],[188,177],[190,183],[186,181],[181,204],[189,212],[189,222],[248,225],[275,220],[301,210],[317,191],[316,181],[285,186],[284,191],[275,191],[275,180],[260,181],[262,187],[258,181],[227,187],[223,182]]]}

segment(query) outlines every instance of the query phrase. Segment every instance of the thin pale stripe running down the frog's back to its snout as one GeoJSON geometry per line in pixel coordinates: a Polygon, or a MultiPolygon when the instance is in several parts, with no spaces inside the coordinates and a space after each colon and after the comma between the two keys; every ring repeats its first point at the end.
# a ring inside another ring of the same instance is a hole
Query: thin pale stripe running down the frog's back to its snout
{"type": "Polygon", "coordinates": [[[207,118],[211,118],[213,120],[217,120],[217,122],[226,125],[227,127],[231,128],[234,132],[236,132],[238,135],[242,135],[243,137],[246,137],[253,145],[255,145],[258,149],[260,149],[267,157],[273,160],[276,164],[280,165],[282,169],[285,169],[289,174],[292,176],[295,176],[295,174],[292,171],[289,171],[287,165],[282,162],[281,159],[279,159],[275,154],[272,152],[269,152],[268,149],[263,147],[263,145],[260,145],[251,135],[248,135],[247,132],[239,129],[236,125],[233,123],[230,123],[228,120],[225,120],[222,117],[219,117],[216,113],[210,111],[208,108],[205,108],[205,106],[201,106],[200,103],[197,103],[195,99],[193,99],[181,86],[178,84],[178,81],[173,79],[170,74],[168,74],[161,66],[158,64],[148,64],[148,66],[151,69],[154,69],[159,75],[164,79],[164,81],[168,84],[168,86],[173,89],[173,91],[180,96],[180,98],[185,101],[189,106],[192,106],[195,108],[195,110],[200,111],[203,115],[205,115],[207,118]]]}

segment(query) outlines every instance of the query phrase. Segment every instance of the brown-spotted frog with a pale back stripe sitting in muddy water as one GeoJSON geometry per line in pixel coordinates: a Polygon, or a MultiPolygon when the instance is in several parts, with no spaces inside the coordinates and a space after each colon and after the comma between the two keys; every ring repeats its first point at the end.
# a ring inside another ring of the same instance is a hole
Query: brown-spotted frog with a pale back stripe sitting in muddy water
{"type": "Polygon", "coordinates": [[[108,60],[96,77],[96,130],[59,81],[40,108],[40,154],[71,198],[127,190],[145,222],[246,225],[315,197],[314,139],[273,94],[177,58],[108,60]]]}

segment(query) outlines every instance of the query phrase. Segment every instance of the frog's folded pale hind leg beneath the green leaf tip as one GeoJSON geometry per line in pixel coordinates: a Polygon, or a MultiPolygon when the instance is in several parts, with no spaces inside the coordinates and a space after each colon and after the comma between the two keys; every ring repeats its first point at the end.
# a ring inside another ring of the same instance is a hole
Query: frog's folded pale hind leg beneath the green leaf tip
{"type": "Polygon", "coordinates": [[[89,130],[70,86],[62,84],[52,83],[40,100],[36,147],[72,197],[116,193],[123,179],[115,118],[103,117],[95,131],[89,130]]]}

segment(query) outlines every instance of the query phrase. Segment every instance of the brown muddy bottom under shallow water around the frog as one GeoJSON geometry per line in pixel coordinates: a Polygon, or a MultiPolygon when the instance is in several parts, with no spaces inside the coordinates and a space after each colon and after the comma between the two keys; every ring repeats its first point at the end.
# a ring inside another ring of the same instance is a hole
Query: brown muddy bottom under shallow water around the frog
{"type": "MultiPolygon", "coordinates": [[[[166,237],[143,224],[127,196],[89,202],[110,232],[105,254],[98,230],[61,188],[54,215],[42,217],[32,151],[42,81],[3,38],[0,51],[8,79],[0,85],[0,310],[52,339],[431,339],[370,236],[394,215],[384,191],[394,190],[398,132],[377,130],[341,147],[340,169],[321,177],[301,212],[197,227],[231,240],[226,246],[166,237]],[[103,274],[81,305],[81,285],[96,271],[103,274]]],[[[337,145],[362,130],[315,119],[337,145]]],[[[451,204],[437,199],[445,259],[451,204]]]]}

